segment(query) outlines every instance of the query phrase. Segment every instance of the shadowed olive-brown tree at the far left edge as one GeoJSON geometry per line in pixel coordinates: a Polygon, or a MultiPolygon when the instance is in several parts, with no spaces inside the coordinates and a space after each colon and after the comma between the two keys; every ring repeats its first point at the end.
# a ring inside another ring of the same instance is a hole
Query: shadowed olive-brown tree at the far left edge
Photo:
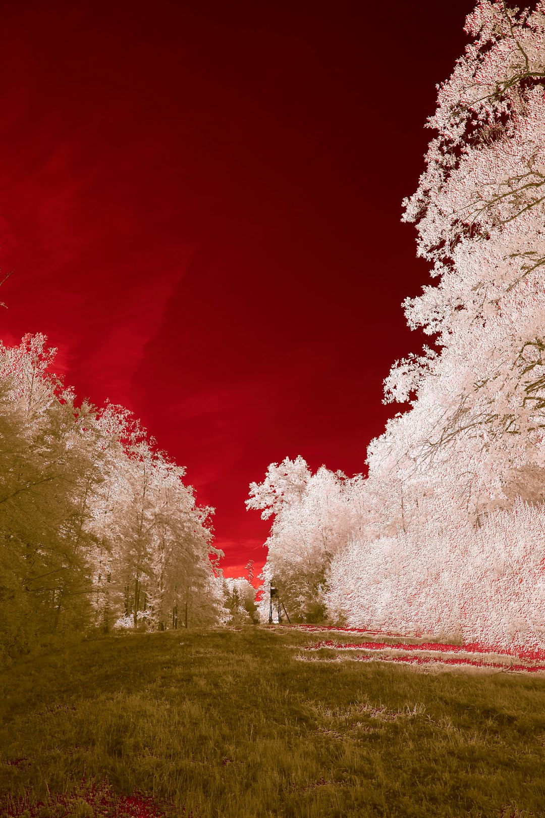
{"type": "Polygon", "coordinates": [[[10,578],[0,597],[20,647],[56,631],[63,610],[83,622],[90,590],[88,497],[101,481],[100,449],[90,407],[76,409],[47,371],[51,357],[42,335],[0,348],[0,532],[10,578]]]}

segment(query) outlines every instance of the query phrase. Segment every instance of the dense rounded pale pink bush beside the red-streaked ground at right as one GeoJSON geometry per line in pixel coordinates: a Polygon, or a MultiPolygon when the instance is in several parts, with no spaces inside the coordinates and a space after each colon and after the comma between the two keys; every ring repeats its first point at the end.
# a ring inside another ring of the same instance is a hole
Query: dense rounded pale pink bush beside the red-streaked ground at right
{"type": "Polygon", "coordinates": [[[326,602],[351,627],[535,649],[545,644],[545,515],[517,500],[477,531],[445,504],[413,533],[355,540],[333,558],[326,602]]]}

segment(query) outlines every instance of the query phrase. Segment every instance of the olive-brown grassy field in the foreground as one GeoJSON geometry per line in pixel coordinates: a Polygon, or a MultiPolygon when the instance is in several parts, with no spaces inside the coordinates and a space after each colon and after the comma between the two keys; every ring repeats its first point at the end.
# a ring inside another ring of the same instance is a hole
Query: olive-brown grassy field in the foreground
{"type": "MultiPolygon", "coordinates": [[[[13,664],[0,816],[25,814],[24,793],[27,816],[108,814],[93,777],[186,818],[545,816],[544,676],[299,661],[316,636],[182,630],[13,664]]],[[[139,809],[123,814],[154,814],[139,809]]]]}

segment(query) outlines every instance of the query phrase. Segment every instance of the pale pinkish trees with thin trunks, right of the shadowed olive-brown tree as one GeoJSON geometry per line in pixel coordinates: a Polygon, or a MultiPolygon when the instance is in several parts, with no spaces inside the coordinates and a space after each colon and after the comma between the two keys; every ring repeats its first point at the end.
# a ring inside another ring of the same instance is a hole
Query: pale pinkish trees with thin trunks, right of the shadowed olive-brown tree
{"type": "Polygon", "coordinates": [[[210,557],[223,552],[212,546],[213,509],[195,504],[185,469],[157,451],[123,407],[109,405],[98,422],[108,430],[110,462],[96,506],[105,531],[97,612],[105,621],[124,615],[136,627],[140,617],[163,629],[176,627],[187,606],[192,624],[217,621],[221,588],[210,557]]]}

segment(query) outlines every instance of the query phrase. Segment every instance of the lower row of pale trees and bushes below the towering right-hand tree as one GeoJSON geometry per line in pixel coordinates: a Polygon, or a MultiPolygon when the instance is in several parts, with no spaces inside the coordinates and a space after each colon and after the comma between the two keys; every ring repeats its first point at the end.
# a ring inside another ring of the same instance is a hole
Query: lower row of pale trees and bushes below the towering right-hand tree
{"type": "Polygon", "coordinates": [[[252,484],[248,507],[274,515],[261,622],[273,587],[292,622],[545,646],[543,505],[504,497],[476,519],[448,487],[390,476],[297,457],[252,484]]]}

